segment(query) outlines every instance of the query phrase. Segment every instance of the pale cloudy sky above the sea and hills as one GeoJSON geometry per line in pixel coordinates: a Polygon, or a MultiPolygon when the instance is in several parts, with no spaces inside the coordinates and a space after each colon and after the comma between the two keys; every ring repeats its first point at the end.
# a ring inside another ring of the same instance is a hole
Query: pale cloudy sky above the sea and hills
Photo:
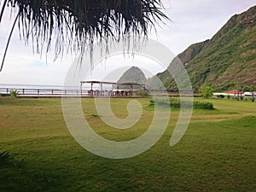
{"type": "MultiPolygon", "coordinates": [[[[165,45],[173,55],[178,55],[190,44],[212,38],[232,15],[240,14],[256,5],[255,0],[163,0],[162,2],[170,20],[166,20],[165,25],[158,27],[157,34],[152,32],[148,38],[165,45]]],[[[5,11],[3,21],[0,23],[1,61],[12,20],[14,16],[10,18],[9,10],[5,11]]],[[[64,55],[55,62],[53,59],[53,54],[47,55],[47,60],[44,53],[34,54],[31,44],[25,45],[24,41],[20,41],[16,26],[3,71],[0,72],[0,84],[62,85],[68,69],[73,64],[74,55],[64,55]]],[[[131,66],[142,67],[147,78],[165,70],[165,67],[146,56],[124,58],[120,53],[108,57],[107,61],[96,63],[93,71],[84,79],[106,80],[106,77],[112,77],[108,80],[114,81],[131,66]],[[147,69],[148,73],[144,69],[147,69]]]]}

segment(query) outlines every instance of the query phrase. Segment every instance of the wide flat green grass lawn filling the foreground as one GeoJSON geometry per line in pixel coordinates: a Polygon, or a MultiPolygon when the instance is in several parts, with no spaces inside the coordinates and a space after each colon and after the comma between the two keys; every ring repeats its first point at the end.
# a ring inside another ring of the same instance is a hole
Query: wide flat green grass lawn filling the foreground
{"type": "MultiPolygon", "coordinates": [[[[147,107],[150,98],[137,100],[143,106],[142,119],[124,131],[101,122],[93,99],[83,99],[82,104],[99,135],[127,141],[147,130],[154,113],[147,107]]],[[[113,113],[124,118],[129,101],[113,99],[113,113]]],[[[174,147],[169,140],[177,109],[154,147],[112,160],[90,154],[74,141],[61,99],[0,97],[0,153],[9,152],[0,156],[0,191],[255,191],[256,102],[207,102],[216,109],[195,109],[174,147]]]]}

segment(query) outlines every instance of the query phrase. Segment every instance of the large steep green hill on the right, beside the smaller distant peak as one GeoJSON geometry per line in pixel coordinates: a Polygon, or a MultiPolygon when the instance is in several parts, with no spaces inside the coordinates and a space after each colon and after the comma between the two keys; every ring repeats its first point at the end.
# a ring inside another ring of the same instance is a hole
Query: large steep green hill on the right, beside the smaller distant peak
{"type": "MultiPolygon", "coordinates": [[[[237,89],[241,84],[255,86],[256,6],[232,16],[211,39],[190,45],[177,57],[186,67],[194,90],[201,86],[212,86],[217,91],[237,89]]],[[[156,76],[167,90],[177,90],[167,71],[156,76]]],[[[149,79],[149,89],[157,88],[150,83],[155,78],[149,79]]]]}

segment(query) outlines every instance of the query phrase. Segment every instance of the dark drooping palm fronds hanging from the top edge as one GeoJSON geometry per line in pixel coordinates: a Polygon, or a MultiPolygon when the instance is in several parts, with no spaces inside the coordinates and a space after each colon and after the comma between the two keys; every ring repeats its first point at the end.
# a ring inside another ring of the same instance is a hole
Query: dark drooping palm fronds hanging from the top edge
{"type": "MultiPolygon", "coordinates": [[[[92,44],[108,38],[147,37],[155,23],[167,19],[160,0],[3,0],[0,22],[7,6],[17,9],[9,39],[17,23],[20,37],[32,40],[37,52],[46,48],[48,53],[55,39],[55,58],[64,50],[77,53],[89,47],[92,53],[92,44]]],[[[3,61],[8,46],[9,40],[3,61]]]]}

